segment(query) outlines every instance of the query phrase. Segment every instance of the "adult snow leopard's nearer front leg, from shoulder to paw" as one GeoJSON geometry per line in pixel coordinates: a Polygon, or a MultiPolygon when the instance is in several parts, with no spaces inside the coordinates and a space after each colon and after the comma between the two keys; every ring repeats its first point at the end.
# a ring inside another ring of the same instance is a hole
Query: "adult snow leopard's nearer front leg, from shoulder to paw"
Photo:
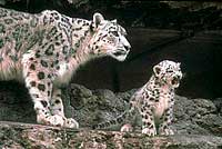
{"type": "Polygon", "coordinates": [[[23,77],[34,103],[37,122],[51,126],[65,126],[64,117],[52,115],[50,100],[52,92],[52,72],[34,54],[27,53],[22,59],[23,77]]]}

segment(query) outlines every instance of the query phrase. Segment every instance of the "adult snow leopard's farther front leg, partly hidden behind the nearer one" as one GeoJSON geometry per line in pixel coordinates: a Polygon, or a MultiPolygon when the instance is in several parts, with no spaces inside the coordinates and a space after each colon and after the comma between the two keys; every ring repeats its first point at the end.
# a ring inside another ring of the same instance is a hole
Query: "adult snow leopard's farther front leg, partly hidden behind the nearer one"
{"type": "Polygon", "coordinates": [[[67,128],[79,128],[79,123],[72,118],[64,117],[63,103],[61,98],[61,89],[53,88],[52,98],[50,100],[50,109],[52,115],[58,115],[64,118],[64,127],[67,128]]]}

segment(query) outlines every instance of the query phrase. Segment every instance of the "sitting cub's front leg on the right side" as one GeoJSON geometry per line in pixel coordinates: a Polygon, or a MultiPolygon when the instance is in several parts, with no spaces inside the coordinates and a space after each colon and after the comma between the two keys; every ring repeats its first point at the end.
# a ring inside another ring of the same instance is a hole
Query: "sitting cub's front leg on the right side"
{"type": "Polygon", "coordinates": [[[159,128],[159,133],[163,136],[174,135],[171,128],[171,123],[173,120],[173,105],[174,105],[173,99],[169,101],[169,105],[170,105],[169,108],[165,110],[165,112],[161,117],[162,123],[160,125],[160,128],[159,128]]]}

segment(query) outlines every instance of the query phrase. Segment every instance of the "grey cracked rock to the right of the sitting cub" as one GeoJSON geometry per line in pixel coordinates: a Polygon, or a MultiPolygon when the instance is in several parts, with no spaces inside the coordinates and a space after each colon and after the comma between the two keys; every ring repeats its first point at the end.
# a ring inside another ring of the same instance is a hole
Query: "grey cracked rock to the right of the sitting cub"
{"type": "Polygon", "coordinates": [[[211,100],[176,96],[174,117],[178,133],[222,136],[222,117],[211,100]]]}

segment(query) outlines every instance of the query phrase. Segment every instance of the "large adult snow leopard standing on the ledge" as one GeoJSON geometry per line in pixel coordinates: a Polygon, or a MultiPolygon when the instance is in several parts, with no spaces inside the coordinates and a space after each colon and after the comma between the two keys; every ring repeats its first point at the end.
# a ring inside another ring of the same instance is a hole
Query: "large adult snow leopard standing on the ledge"
{"type": "Polygon", "coordinates": [[[123,61],[130,50],[125,34],[100,13],[91,21],[53,10],[29,14],[0,8],[0,78],[26,83],[39,123],[78,128],[64,117],[60,87],[92,58],[123,61]]]}

